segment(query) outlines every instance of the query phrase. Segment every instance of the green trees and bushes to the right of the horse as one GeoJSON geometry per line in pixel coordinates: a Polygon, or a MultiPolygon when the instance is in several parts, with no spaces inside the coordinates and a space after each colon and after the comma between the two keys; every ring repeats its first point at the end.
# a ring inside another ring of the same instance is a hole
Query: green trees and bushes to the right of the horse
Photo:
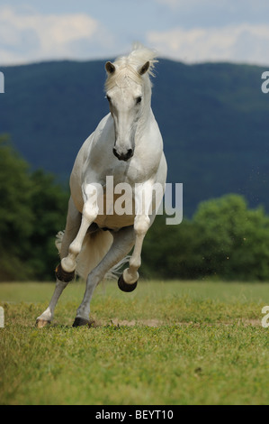
{"type": "Polygon", "coordinates": [[[202,202],[192,220],[166,226],[157,217],[145,238],[141,274],[148,278],[269,279],[269,217],[235,194],[202,202]]]}

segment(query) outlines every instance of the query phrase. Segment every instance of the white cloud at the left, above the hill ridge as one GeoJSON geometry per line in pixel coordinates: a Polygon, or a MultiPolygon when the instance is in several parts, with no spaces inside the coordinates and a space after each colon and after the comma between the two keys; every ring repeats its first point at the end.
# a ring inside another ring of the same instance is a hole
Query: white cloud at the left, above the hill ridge
{"type": "Polygon", "coordinates": [[[90,52],[92,41],[99,37],[98,44],[107,39],[104,32],[102,25],[87,14],[38,14],[30,10],[22,14],[12,7],[2,7],[0,62],[80,59],[77,44],[84,43],[86,56],[86,47],[90,52]]]}

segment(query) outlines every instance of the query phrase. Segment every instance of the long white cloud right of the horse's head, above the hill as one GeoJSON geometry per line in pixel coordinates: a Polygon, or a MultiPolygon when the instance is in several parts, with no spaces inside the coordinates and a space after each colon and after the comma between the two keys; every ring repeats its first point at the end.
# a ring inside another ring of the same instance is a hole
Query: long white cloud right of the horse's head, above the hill
{"type": "Polygon", "coordinates": [[[269,64],[269,27],[242,23],[222,28],[175,28],[148,32],[161,56],[185,62],[234,61],[269,64]]]}

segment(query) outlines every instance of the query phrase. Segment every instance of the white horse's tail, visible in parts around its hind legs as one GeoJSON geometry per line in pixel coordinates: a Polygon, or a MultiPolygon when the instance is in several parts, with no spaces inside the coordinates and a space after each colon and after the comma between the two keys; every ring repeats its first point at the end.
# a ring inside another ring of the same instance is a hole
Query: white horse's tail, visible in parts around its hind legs
{"type": "MultiPolygon", "coordinates": [[[[60,252],[61,242],[64,232],[59,231],[56,235],[56,247],[58,248],[58,253],[60,252]]],[[[112,246],[113,237],[109,231],[96,231],[94,233],[86,233],[85,239],[82,245],[81,252],[76,258],[76,274],[83,278],[87,279],[89,272],[91,272],[95,266],[100,263],[106,253],[110,250],[112,246]]],[[[120,263],[117,263],[109,270],[104,278],[118,278],[121,274],[121,267],[127,263],[130,259],[130,256],[126,256],[121,260],[120,263]]]]}

